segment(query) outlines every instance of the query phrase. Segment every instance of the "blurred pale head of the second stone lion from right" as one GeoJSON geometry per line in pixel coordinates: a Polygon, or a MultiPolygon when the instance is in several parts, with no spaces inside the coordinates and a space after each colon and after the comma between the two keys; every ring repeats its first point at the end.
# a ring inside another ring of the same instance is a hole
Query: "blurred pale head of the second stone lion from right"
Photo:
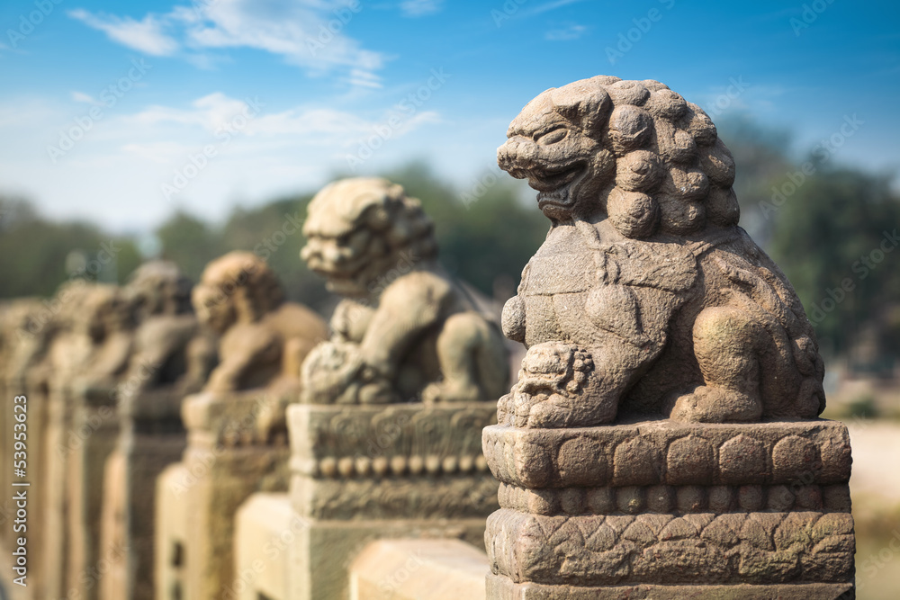
{"type": "Polygon", "coordinates": [[[303,234],[302,259],[342,296],[377,296],[386,273],[437,255],[434,226],[419,201],[386,179],[329,184],[310,202],[303,234]]]}

